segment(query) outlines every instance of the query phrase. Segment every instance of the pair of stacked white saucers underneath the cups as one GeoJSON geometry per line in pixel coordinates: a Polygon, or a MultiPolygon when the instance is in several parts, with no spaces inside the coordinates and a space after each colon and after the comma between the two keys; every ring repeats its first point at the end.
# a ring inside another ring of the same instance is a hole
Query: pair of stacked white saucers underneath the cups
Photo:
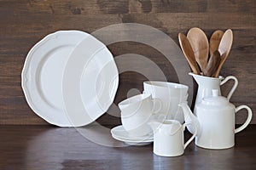
{"type": "Polygon", "coordinates": [[[125,128],[122,125],[113,127],[110,132],[112,133],[113,139],[125,142],[126,144],[149,144],[154,140],[153,134],[144,136],[132,136],[131,134],[127,133],[127,131],[125,131],[125,128]]]}

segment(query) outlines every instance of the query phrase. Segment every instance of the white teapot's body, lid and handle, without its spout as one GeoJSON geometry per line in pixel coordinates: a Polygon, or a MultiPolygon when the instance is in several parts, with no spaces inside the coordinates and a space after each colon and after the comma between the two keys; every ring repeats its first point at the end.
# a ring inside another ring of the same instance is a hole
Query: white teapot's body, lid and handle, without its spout
{"type": "Polygon", "coordinates": [[[247,105],[230,104],[229,100],[218,96],[218,90],[212,90],[212,97],[202,99],[196,105],[196,116],[201,132],[195,138],[195,144],[207,149],[227,149],[235,145],[235,133],[241,132],[252,120],[252,110],[247,105]],[[247,120],[235,129],[236,112],[247,110],[247,120]]]}

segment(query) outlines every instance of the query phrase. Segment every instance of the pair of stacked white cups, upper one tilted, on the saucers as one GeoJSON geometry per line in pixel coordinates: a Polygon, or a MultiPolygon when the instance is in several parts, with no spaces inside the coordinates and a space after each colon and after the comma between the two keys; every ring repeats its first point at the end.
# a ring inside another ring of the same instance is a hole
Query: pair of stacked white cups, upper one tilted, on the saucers
{"type": "Polygon", "coordinates": [[[159,99],[152,99],[151,94],[138,94],[119,103],[121,122],[125,131],[133,136],[152,133],[148,122],[161,108],[159,99]]]}

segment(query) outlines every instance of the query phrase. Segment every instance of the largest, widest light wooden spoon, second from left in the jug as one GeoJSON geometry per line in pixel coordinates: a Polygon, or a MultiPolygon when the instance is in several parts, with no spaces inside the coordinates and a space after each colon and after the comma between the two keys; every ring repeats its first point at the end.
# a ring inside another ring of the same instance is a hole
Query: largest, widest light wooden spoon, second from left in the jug
{"type": "Polygon", "coordinates": [[[207,68],[209,43],[204,31],[200,28],[191,28],[187,34],[191,47],[195,54],[195,60],[201,67],[201,71],[204,72],[207,68]]]}

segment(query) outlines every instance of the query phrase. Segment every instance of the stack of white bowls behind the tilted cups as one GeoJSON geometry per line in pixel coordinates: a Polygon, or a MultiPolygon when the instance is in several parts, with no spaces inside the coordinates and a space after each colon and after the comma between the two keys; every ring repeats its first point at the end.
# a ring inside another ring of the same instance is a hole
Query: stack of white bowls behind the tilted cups
{"type": "Polygon", "coordinates": [[[152,94],[153,99],[160,99],[160,112],[166,114],[166,119],[184,122],[183,111],[178,104],[188,100],[188,86],[174,82],[147,81],[143,82],[143,88],[144,94],[152,94]]]}

